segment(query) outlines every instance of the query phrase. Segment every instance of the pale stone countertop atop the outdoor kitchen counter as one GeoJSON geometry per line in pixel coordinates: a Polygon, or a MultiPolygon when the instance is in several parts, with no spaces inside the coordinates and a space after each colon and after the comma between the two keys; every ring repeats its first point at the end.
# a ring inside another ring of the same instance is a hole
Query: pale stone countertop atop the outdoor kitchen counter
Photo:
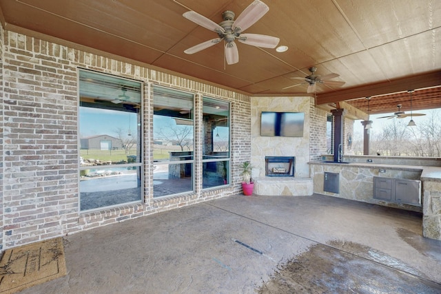
{"type": "Polygon", "coordinates": [[[369,162],[323,162],[323,161],[311,161],[309,165],[334,165],[344,167],[365,167],[368,169],[395,169],[402,171],[422,171],[421,180],[429,180],[432,182],[441,182],[441,167],[423,167],[416,165],[391,165],[381,163],[369,163],[369,162]]]}

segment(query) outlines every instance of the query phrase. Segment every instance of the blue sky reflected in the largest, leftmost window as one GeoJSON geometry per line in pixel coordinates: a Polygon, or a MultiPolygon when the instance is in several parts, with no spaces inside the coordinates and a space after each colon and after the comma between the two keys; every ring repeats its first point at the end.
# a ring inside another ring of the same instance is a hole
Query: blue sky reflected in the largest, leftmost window
{"type": "Polygon", "coordinates": [[[118,136],[118,129],[136,135],[136,114],[112,109],[80,107],[80,137],[87,138],[97,135],[118,136]]]}

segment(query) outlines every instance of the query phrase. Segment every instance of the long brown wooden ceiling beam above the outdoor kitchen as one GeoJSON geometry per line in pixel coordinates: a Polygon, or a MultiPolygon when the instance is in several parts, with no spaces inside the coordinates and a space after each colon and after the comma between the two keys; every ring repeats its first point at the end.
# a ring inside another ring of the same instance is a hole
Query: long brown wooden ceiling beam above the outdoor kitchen
{"type": "Polygon", "coordinates": [[[416,90],[441,85],[441,72],[429,72],[418,76],[399,78],[390,82],[382,82],[360,87],[353,87],[332,93],[318,94],[317,104],[336,103],[355,98],[391,94],[407,90],[416,90]]]}

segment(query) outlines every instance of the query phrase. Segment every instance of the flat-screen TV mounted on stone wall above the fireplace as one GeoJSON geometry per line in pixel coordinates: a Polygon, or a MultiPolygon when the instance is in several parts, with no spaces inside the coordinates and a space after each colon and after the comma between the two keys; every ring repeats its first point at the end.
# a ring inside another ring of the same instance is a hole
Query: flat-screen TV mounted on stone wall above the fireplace
{"type": "Polygon", "coordinates": [[[260,136],[302,137],[303,112],[262,112],[260,136]]]}

